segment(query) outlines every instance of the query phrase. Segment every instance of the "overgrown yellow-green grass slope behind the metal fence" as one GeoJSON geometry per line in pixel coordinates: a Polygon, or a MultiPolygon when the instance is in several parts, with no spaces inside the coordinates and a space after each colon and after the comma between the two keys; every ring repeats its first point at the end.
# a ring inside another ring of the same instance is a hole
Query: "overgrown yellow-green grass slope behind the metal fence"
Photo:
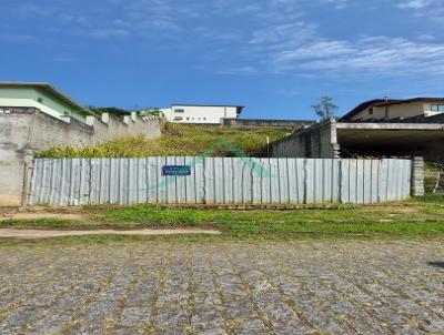
{"type": "MultiPolygon", "coordinates": [[[[40,158],[144,158],[144,156],[194,156],[224,139],[250,156],[258,155],[270,141],[276,141],[290,129],[230,129],[221,126],[163,123],[162,136],[147,140],[128,136],[84,148],[54,146],[38,153],[40,158]]],[[[231,156],[225,148],[218,148],[212,156],[231,156]]]]}

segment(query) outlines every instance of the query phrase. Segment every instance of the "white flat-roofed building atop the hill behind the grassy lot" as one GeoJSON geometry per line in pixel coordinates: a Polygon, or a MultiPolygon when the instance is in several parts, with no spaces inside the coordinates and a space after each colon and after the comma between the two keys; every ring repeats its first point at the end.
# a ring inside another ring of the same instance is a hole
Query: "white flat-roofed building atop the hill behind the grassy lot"
{"type": "Polygon", "coordinates": [[[222,124],[223,119],[236,119],[243,111],[242,105],[172,104],[161,109],[164,119],[175,123],[222,124]]]}

